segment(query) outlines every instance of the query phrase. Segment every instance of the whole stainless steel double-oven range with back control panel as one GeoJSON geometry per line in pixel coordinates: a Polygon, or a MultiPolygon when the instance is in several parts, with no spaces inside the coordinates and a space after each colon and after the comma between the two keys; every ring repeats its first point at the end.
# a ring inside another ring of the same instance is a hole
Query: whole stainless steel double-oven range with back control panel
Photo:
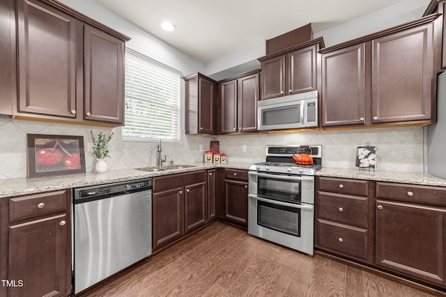
{"type": "Polygon", "coordinates": [[[313,255],[314,173],[321,145],[268,145],[266,162],[249,167],[248,233],[313,255]],[[298,165],[293,154],[312,156],[298,165]]]}

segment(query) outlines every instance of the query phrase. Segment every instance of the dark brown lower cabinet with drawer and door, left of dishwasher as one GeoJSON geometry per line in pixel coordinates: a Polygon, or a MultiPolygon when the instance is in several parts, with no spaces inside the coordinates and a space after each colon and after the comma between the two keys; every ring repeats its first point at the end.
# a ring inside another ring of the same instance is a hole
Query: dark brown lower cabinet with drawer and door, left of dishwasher
{"type": "Polygon", "coordinates": [[[71,292],[70,192],[3,198],[1,296],[68,296],[71,292]]]}

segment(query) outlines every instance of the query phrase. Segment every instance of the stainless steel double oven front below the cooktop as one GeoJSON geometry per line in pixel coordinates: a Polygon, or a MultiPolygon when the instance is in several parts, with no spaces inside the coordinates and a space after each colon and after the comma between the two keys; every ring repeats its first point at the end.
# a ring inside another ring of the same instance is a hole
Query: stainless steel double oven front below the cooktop
{"type": "Polygon", "coordinates": [[[248,233],[313,255],[314,177],[249,171],[248,233]]]}

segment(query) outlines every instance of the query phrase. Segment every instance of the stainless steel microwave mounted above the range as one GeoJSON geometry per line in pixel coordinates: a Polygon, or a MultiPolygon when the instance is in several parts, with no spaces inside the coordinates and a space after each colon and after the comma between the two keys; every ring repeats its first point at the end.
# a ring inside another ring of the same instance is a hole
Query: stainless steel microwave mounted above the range
{"type": "Polygon", "coordinates": [[[258,102],[259,130],[318,126],[318,91],[299,93],[258,102]]]}

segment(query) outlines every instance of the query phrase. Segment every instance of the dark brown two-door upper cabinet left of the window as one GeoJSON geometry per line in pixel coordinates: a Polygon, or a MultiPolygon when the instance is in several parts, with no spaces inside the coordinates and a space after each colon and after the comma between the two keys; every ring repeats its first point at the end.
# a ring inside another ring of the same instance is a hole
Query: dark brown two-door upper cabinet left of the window
{"type": "Polygon", "coordinates": [[[56,1],[16,2],[17,100],[1,112],[123,125],[124,43],[130,38],[56,1]]]}

